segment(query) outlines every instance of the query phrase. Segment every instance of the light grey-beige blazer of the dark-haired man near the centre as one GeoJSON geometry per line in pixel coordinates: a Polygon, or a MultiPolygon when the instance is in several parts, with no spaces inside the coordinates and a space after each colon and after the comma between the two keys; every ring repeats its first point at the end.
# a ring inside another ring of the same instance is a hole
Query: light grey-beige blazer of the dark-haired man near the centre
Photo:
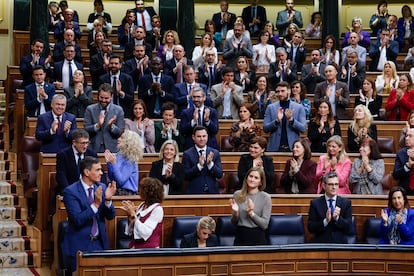
{"type": "MultiPolygon", "coordinates": [[[[224,97],[221,94],[221,88],[223,83],[213,85],[210,91],[210,97],[213,101],[213,107],[217,110],[217,115],[220,118],[223,117],[224,110],[224,97]]],[[[227,92],[231,93],[231,92],[227,92]]],[[[236,92],[231,95],[230,111],[233,119],[239,119],[239,106],[243,104],[243,88],[236,85],[236,92]]]]}

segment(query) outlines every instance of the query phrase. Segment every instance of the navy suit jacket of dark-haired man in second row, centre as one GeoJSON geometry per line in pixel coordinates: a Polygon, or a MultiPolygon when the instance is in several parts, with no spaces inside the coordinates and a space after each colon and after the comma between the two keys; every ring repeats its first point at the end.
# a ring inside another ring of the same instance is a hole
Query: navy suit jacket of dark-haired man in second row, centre
{"type": "Polygon", "coordinates": [[[197,166],[200,156],[195,146],[187,149],[183,153],[182,163],[185,169],[185,179],[188,181],[188,194],[219,193],[217,180],[223,177],[220,153],[218,150],[211,147],[207,147],[206,151],[206,156],[208,156],[210,152],[213,152],[214,166],[211,169],[208,169],[206,161],[201,171],[197,166]]]}

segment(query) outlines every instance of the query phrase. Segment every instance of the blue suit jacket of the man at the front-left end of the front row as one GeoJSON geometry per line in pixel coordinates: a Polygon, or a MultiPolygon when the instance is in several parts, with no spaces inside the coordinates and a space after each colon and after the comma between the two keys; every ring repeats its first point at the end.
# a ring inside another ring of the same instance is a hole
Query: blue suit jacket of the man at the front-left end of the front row
{"type": "Polygon", "coordinates": [[[63,202],[68,213],[69,227],[65,233],[62,250],[64,255],[72,260],[72,271],[76,270],[76,252],[78,250],[88,251],[91,248],[96,249],[96,244],[91,247],[91,243],[96,242],[99,242],[100,246],[98,247],[101,247],[101,249],[109,248],[105,220],[112,220],[115,217],[115,208],[112,204],[110,207],[105,205],[106,186],[103,183],[96,183],[94,184],[94,190],[96,190],[98,185],[102,186],[103,189],[102,203],[96,214],[90,207],[88,196],[80,180],[73,183],[73,185],[69,185],[63,192],[63,202]],[[99,241],[89,240],[93,217],[96,218],[98,223],[99,241]]]}

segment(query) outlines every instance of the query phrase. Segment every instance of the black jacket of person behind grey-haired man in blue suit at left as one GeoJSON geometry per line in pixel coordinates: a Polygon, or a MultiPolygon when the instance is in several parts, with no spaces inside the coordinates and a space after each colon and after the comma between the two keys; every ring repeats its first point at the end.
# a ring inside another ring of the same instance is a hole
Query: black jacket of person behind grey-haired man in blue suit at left
{"type": "Polygon", "coordinates": [[[66,102],[66,112],[75,115],[76,118],[85,117],[85,110],[88,105],[93,104],[92,87],[84,86],[83,94],[75,97],[75,88],[70,85],[63,89],[66,102]]]}

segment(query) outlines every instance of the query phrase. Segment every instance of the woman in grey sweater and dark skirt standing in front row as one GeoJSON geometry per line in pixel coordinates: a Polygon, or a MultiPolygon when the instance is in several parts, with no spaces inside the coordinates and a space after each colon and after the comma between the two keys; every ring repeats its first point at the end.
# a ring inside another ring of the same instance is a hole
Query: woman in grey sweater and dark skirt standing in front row
{"type": "Polygon", "coordinates": [[[236,225],[234,245],[266,245],[266,229],[272,213],[272,200],[263,190],[266,178],[261,167],[247,172],[241,190],[229,200],[231,222],[236,225]]]}

